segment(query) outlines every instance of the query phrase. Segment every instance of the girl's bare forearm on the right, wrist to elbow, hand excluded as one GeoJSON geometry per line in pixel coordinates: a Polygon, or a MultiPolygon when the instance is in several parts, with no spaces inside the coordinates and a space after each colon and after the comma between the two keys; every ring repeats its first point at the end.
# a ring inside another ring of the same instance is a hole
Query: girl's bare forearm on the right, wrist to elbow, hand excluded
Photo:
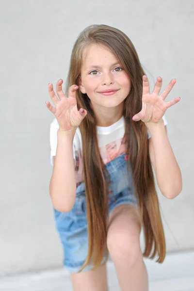
{"type": "Polygon", "coordinates": [[[170,145],[163,120],[156,124],[146,123],[150,132],[149,155],[162,194],[175,198],[182,190],[182,178],[178,163],[170,145]]]}

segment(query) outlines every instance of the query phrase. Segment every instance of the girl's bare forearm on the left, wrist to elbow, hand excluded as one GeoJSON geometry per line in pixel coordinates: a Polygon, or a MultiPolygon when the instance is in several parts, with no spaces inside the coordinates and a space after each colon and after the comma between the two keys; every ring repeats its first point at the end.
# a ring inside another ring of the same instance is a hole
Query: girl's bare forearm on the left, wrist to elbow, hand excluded
{"type": "Polygon", "coordinates": [[[53,207],[62,212],[72,209],[76,198],[73,134],[57,131],[57,150],[49,184],[53,207]]]}

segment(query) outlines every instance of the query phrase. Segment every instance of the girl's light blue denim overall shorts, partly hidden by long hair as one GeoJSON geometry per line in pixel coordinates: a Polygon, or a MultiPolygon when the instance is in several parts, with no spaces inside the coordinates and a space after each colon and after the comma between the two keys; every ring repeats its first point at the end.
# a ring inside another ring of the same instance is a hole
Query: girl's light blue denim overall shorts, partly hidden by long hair
{"type": "MultiPolygon", "coordinates": [[[[127,171],[126,155],[122,154],[106,164],[110,174],[109,214],[121,204],[137,205],[132,184],[131,170],[127,171]]],[[[87,213],[85,185],[82,182],[76,191],[76,201],[69,212],[54,209],[56,229],[64,249],[64,267],[78,272],[88,253],[87,213]]],[[[90,270],[87,265],[83,271],[90,270]]]]}

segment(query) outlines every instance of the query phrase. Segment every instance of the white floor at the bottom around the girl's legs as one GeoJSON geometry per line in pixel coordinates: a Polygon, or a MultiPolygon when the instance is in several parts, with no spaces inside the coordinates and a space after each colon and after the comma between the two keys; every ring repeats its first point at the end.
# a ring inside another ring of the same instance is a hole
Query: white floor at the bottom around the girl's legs
{"type": "MultiPolygon", "coordinates": [[[[145,260],[149,291],[194,291],[194,252],[168,255],[162,265],[145,260]]],[[[108,261],[110,291],[119,291],[113,263],[108,261]]],[[[65,270],[0,278],[0,291],[72,291],[65,270]]]]}

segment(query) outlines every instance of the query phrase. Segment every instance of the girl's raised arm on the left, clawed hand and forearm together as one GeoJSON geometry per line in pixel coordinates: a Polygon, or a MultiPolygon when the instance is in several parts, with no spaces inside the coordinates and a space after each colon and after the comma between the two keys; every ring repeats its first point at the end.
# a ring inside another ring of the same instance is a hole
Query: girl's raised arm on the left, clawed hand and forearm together
{"type": "MultiPolygon", "coordinates": [[[[76,129],[87,115],[87,111],[80,108],[78,111],[76,90],[79,86],[72,85],[66,98],[62,90],[63,80],[56,84],[57,97],[52,83],[49,83],[49,95],[56,107],[46,101],[47,108],[57,119],[57,149],[53,164],[49,191],[52,204],[56,210],[68,212],[72,209],[76,198],[76,173],[73,158],[73,138],[76,129]]],[[[54,139],[56,136],[54,137],[54,139]]]]}

